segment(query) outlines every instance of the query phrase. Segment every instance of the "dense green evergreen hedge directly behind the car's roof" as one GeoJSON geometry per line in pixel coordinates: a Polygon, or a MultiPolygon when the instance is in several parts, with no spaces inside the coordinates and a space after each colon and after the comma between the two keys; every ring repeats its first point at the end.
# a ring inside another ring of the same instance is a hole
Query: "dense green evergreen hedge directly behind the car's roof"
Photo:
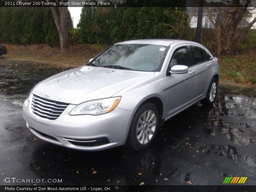
{"type": "Polygon", "coordinates": [[[140,38],[188,36],[186,7],[84,7],[78,42],[113,44],[140,38]]]}

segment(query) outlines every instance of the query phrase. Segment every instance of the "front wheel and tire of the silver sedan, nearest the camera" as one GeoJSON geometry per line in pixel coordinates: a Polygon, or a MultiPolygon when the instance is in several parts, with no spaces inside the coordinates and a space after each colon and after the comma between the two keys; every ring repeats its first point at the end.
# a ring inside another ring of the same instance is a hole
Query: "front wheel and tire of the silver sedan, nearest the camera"
{"type": "Polygon", "coordinates": [[[142,105],[132,119],[126,142],[127,147],[137,151],[148,148],[156,138],[159,125],[160,116],[156,105],[154,103],[142,105]]]}

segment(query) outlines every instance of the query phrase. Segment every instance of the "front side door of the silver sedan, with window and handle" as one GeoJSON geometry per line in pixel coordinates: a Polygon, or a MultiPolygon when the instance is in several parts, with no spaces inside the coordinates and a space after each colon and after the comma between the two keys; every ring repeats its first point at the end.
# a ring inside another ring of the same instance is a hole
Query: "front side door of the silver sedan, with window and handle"
{"type": "Polygon", "coordinates": [[[188,107],[195,100],[196,68],[191,66],[187,46],[178,47],[173,52],[165,80],[167,84],[167,117],[170,117],[188,107]],[[169,71],[174,65],[188,66],[188,73],[170,74],[169,71]]]}

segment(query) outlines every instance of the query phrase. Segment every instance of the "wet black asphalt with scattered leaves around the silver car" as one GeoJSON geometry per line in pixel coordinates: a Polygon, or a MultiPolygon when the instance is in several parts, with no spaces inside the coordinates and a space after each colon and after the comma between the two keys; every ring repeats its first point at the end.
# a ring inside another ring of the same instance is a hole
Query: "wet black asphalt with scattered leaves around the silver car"
{"type": "Polygon", "coordinates": [[[255,90],[219,87],[213,107],[197,103],[168,120],[146,151],[84,152],[37,139],[22,117],[33,85],[65,69],[0,59],[0,185],[220,185],[235,176],[256,185],[255,90]]]}

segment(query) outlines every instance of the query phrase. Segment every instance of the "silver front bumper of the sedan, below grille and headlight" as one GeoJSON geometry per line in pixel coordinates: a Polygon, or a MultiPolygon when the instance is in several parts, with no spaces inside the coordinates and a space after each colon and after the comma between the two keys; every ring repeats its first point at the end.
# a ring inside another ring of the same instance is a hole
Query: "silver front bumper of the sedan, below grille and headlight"
{"type": "Polygon", "coordinates": [[[116,107],[107,114],[70,116],[75,105],[68,105],[56,120],[37,118],[23,104],[23,117],[28,129],[38,138],[67,148],[96,151],[125,144],[132,120],[132,111],[116,107]]]}

